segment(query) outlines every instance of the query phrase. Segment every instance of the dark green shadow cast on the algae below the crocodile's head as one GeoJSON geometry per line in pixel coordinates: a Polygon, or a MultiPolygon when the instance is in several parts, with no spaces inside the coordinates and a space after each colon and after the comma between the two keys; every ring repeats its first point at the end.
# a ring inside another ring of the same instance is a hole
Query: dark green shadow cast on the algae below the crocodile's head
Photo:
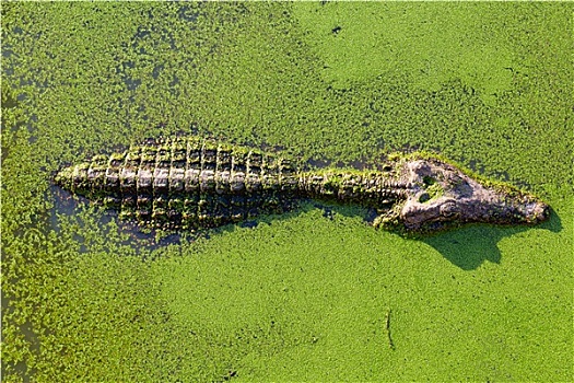
{"type": "Polygon", "coordinates": [[[473,270],[484,260],[500,264],[502,256],[497,243],[503,237],[512,236],[525,230],[540,229],[555,233],[562,230],[562,222],[554,210],[551,209],[550,219],[547,222],[537,227],[475,224],[420,240],[434,247],[454,265],[464,270],[473,270]]]}

